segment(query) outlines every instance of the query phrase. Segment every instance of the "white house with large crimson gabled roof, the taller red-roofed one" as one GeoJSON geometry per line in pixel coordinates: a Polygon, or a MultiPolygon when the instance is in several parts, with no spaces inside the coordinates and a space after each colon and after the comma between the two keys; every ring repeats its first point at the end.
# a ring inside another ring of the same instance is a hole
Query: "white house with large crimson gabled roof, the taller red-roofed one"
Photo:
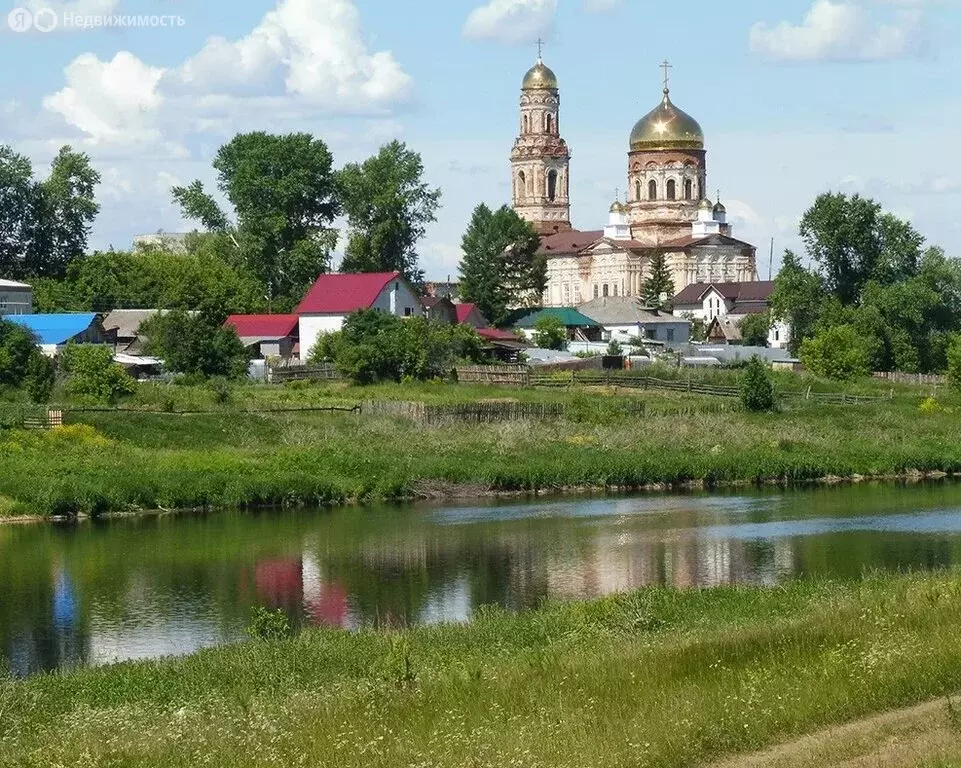
{"type": "Polygon", "coordinates": [[[296,309],[301,360],[320,336],[339,331],[347,315],[361,309],[377,309],[395,317],[424,314],[420,296],[400,272],[321,275],[296,309]]]}

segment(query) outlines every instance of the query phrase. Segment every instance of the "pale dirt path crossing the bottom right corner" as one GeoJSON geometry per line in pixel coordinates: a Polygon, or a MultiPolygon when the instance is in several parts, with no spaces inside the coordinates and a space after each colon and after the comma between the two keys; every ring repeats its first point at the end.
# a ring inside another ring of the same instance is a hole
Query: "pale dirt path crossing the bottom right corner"
{"type": "Polygon", "coordinates": [[[927,702],[828,728],[713,768],[961,767],[961,700],[927,702]]]}

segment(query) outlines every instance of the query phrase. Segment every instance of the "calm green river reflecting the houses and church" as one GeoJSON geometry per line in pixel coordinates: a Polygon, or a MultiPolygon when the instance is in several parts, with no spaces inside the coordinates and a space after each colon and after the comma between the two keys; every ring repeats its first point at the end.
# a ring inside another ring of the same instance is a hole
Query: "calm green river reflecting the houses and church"
{"type": "Polygon", "coordinates": [[[295,626],[468,620],[648,584],[775,584],[961,561],[961,485],[0,525],[0,667],[183,654],[295,626]]]}

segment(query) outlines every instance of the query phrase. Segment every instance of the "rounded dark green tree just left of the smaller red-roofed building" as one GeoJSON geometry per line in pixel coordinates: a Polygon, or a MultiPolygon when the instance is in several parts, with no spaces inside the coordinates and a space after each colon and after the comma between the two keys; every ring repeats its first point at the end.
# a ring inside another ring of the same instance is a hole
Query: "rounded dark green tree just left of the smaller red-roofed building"
{"type": "Polygon", "coordinates": [[[240,379],[247,374],[250,353],[236,331],[224,327],[224,319],[213,311],[177,309],[150,318],[140,332],[147,354],[161,358],[174,373],[240,379]]]}

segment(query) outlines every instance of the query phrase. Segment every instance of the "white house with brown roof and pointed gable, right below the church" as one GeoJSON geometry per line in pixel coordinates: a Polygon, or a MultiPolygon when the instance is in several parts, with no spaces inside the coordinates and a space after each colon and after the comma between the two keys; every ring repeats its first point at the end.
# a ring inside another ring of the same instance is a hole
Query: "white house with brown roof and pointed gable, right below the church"
{"type": "MultiPolygon", "coordinates": [[[[693,283],[674,297],[674,313],[703,320],[708,325],[718,317],[726,317],[739,324],[747,315],[769,310],[773,293],[772,280],[693,283]]],[[[768,336],[769,346],[783,349],[790,341],[790,326],[783,321],[774,323],[768,336]]]]}

